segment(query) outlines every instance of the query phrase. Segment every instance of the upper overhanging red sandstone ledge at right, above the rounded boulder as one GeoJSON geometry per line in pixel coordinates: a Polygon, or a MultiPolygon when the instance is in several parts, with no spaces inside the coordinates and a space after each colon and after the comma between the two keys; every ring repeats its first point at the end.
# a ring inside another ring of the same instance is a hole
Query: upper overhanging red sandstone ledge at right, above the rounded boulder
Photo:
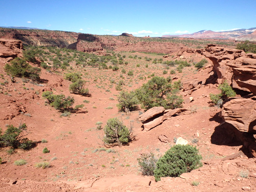
{"type": "Polygon", "coordinates": [[[201,53],[213,64],[214,74],[209,79],[218,83],[226,80],[234,89],[256,94],[256,54],[215,45],[208,45],[201,53]]]}

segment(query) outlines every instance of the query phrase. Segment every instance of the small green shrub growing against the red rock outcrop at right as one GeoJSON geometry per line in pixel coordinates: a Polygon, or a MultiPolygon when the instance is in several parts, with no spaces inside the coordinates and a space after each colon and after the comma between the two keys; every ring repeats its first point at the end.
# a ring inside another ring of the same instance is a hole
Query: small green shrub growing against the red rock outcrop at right
{"type": "Polygon", "coordinates": [[[220,94],[210,94],[211,101],[216,105],[221,105],[228,97],[236,96],[236,92],[232,90],[226,81],[220,84],[218,89],[221,90],[220,94]]]}

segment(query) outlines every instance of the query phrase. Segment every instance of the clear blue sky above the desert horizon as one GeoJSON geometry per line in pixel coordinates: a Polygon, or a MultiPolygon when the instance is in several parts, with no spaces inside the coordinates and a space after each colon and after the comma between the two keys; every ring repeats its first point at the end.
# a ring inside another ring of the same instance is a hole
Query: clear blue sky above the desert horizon
{"type": "Polygon", "coordinates": [[[162,36],[256,27],[256,0],[0,1],[0,26],[162,36]]]}

